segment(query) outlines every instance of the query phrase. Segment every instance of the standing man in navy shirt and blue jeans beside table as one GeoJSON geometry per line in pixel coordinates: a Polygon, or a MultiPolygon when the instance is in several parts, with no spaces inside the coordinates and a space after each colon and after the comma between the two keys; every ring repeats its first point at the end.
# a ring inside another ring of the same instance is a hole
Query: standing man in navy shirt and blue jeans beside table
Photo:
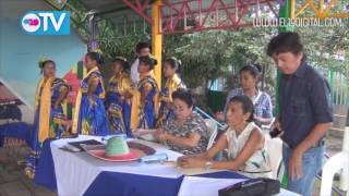
{"type": "Polygon", "coordinates": [[[326,79],[305,61],[297,33],[280,33],[267,47],[281,72],[280,112],[275,126],[285,131],[282,160],[288,189],[311,196],[325,152],[324,136],[332,126],[333,103],[326,79]]]}

